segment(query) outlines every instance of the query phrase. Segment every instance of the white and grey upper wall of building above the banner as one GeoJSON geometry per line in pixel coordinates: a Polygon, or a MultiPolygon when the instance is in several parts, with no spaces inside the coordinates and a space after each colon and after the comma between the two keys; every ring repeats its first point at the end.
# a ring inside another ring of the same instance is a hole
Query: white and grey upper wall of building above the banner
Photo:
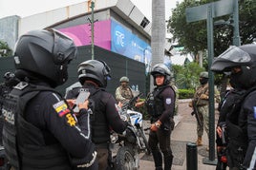
{"type": "MultiPolygon", "coordinates": [[[[28,17],[10,21],[3,18],[0,25],[0,39],[4,39],[13,49],[17,37],[32,29],[38,28],[69,28],[89,24],[91,19],[90,2],[82,2],[72,6],[37,13],[28,17]],[[4,30],[4,33],[2,33],[4,30]],[[12,35],[11,35],[12,33],[12,35]],[[6,35],[3,37],[3,35],[6,35]],[[2,36],[2,37],[1,37],[2,36]]],[[[151,23],[140,26],[145,16],[130,0],[96,0],[95,20],[114,19],[135,35],[150,44],[151,23]]]]}

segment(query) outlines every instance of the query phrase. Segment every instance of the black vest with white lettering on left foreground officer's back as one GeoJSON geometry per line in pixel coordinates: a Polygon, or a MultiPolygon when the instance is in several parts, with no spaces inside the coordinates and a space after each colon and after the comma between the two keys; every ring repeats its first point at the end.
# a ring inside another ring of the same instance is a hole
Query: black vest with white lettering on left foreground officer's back
{"type": "Polygon", "coordinates": [[[21,82],[14,86],[3,105],[3,143],[7,158],[16,169],[71,168],[63,147],[59,143],[44,145],[41,130],[27,122],[23,115],[27,104],[45,90],[57,93],[52,88],[21,82]],[[20,139],[26,139],[26,142],[20,139]]]}

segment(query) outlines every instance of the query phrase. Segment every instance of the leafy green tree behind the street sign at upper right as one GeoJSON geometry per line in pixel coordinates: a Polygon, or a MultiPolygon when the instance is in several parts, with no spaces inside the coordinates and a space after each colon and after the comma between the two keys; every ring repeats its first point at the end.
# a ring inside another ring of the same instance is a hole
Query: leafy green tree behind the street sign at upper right
{"type": "MultiPolygon", "coordinates": [[[[217,1],[217,0],[214,0],[217,1]]],[[[207,49],[207,29],[206,21],[186,23],[185,9],[200,6],[213,0],[184,0],[181,4],[177,3],[173,9],[172,16],[168,20],[167,29],[173,34],[172,41],[184,46],[185,51],[197,54],[198,51],[207,49]]],[[[256,39],[256,3],[255,0],[239,1],[239,28],[241,43],[249,44],[256,39]]],[[[214,18],[214,21],[229,20],[232,24],[230,15],[214,18]]],[[[214,27],[214,54],[220,55],[224,50],[232,45],[233,27],[224,25],[214,27]]]]}

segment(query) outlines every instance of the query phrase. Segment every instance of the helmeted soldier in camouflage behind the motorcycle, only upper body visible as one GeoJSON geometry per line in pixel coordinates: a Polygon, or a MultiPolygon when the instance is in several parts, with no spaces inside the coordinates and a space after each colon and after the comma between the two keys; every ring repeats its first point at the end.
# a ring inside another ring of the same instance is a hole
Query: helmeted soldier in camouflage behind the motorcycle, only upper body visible
{"type": "Polygon", "coordinates": [[[129,78],[123,76],[119,82],[120,85],[116,89],[116,100],[121,104],[127,103],[134,97],[132,88],[129,86],[129,78]]]}

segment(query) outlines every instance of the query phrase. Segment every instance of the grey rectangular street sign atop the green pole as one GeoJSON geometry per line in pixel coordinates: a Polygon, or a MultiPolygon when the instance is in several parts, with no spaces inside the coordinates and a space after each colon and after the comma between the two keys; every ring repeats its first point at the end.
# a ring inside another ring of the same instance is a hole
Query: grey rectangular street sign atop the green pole
{"type": "Polygon", "coordinates": [[[212,17],[219,17],[230,14],[234,11],[235,1],[221,0],[213,3],[204,4],[202,6],[187,8],[186,22],[191,23],[195,21],[207,19],[207,8],[212,6],[212,17]]]}

